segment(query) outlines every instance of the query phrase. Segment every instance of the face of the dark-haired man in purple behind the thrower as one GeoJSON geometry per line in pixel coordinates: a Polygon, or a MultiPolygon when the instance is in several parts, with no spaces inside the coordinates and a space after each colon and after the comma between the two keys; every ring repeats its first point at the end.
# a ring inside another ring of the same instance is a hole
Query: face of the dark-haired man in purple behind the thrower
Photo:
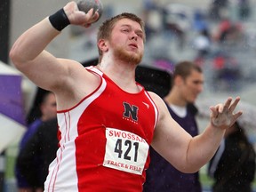
{"type": "Polygon", "coordinates": [[[198,94],[204,88],[204,75],[196,70],[192,70],[191,74],[186,79],[182,80],[181,96],[186,102],[195,102],[198,94]]]}

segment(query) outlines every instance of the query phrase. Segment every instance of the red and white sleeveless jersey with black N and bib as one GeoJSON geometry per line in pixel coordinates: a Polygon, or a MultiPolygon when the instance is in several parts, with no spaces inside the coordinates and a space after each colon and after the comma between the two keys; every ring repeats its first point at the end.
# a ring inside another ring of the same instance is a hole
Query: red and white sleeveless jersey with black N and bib
{"type": "MultiPolygon", "coordinates": [[[[158,111],[148,92],[124,92],[98,68],[100,86],[58,111],[60,148],[45,191],[142,191],[158,111]]],[[[138,84],[140,86],[140,84],[138,84]]]]}

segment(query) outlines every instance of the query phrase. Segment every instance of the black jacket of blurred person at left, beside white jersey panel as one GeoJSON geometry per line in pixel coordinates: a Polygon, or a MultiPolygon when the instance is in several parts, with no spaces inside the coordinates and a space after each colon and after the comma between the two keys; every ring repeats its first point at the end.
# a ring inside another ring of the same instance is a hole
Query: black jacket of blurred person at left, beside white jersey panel
{"type": "Polygon", "coordinates": [[[17,164],[20,167],[20,173],[28,181],[29,186],[36,189],[36,192],[44,190],[49,164],[56,157],[59,146],[57,132],[57,118],[44,122],[18,156],[17,164]],[[34,156],[38,156],[38,164],[35,164],[34,156]]]}

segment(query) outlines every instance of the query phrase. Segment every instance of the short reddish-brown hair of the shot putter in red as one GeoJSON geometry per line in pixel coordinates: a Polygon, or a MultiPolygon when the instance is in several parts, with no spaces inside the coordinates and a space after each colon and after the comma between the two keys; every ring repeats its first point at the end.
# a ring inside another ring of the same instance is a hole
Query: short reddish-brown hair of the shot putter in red
{"type": "MultiPolygon", "coordinates": [[[[145,24],[144,24],[143,20],[141,20],[137,15],[135,15],[133,13],[129,13],[129,12],[123,12],[121,14],[116,15],[115,17],[105,20],[99,28],[98,35],[97,35],[97,42],[99,42],[100,39],[109,39],[111,32],[112,32],[113,28],[115,27],[116,22],[118,20],[122,20],[122,19],[129,19],[129,20],[138,22],[143,31],[144,42],[145,42],[145,39],[146,39],[145,24]]],[[[99,60],[101,60],[102,52],[99,48],[98,48],[98,52],[99,52],[99,60]]]]}

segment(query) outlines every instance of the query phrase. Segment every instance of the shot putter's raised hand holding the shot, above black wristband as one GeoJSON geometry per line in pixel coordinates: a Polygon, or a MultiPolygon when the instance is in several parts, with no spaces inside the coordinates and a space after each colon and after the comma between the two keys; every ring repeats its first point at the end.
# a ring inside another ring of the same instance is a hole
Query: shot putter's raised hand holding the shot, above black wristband
{"type": "Polygon", "coordinates": [[[99,13],[95,12],[93,14],[93,9],[85,13],[78,10],[76,2],[72,1],[66,4],[64,7],[64,12],[66,13],[70,24],[82,26],[88,28],[93,22],[98,20],[99,13]]]}

